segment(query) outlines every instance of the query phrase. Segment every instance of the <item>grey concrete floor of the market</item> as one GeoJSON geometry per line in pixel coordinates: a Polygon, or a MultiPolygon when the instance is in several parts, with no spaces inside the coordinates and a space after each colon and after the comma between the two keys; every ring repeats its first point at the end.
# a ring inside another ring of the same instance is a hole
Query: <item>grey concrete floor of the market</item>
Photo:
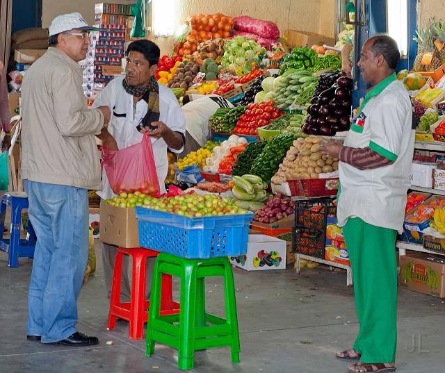
{"type": "MultiPolygon", "coordinates": [[[[97,257],[101,253],[97,249],[97,257]]],[[[130,340],[127,322],[106,330],[108,301],[101,260],[78,301],[78,328],[97,335],[97,347],[70,348],[26,340],[26,295],[32,260],[8,268],[0,252],[0,373],[178,372],[176,351],[156,345],[145,357],[143,340],[130,340]],[[113,345],[106,345],[112,340],[113,345]]],[[[346,372],[348,363],[334,357],[350,347],[358,331],[353,290],[346,272],[326,267],[299,276],[282,271],[234,269],[241,336],[241,363],[230,363],[229,349],[195,354],[193,372],[346,372]]],[[[207,280],[207,304],[221,314],[223,283],[207,280]]],[[[400,373],[445,372],[445,304],[442,299],[399,291],[397,367],[400,373]]]]}

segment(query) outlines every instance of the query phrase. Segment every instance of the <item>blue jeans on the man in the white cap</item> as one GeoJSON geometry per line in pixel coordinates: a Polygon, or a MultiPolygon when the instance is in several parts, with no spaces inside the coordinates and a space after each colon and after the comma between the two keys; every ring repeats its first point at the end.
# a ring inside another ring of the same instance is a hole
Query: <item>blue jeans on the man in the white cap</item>
{"type": "Polygon", "coordinates": [[[76,332],[76,300],[88,260],[88,191],[25,180],[35,234],[28,335],[43,343],[76,332]]]}

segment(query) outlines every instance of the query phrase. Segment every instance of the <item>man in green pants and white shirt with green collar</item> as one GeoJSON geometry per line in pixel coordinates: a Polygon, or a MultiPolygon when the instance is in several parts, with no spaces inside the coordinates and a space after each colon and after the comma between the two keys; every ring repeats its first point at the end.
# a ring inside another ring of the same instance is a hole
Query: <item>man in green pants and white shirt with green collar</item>
{"type": "Polygon", "coordinates": [[[337,219],[353,269],[360,323],[353,348],[337,354],[359,359],[349,372],[396,370],[395,242],[403,226],[414,153],[410,97],[394,74],[399,58],[389,36],[366,41],[358,65],[371,88],[344,144],[323,147],[325,154],[340,158],[337,219]]]}

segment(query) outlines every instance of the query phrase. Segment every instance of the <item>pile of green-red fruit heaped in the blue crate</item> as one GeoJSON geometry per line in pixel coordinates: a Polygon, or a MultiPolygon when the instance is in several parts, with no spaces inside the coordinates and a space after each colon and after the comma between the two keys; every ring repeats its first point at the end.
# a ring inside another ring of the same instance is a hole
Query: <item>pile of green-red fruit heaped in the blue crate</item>
{"type": "Polygon", "coordinates": [[[186,217],[248,213],[247,210],[236,206],[233,199],[223,198],[216,194],[184,194],[182,196],[159,198],[147,197],[143,207],[186,217]]]}

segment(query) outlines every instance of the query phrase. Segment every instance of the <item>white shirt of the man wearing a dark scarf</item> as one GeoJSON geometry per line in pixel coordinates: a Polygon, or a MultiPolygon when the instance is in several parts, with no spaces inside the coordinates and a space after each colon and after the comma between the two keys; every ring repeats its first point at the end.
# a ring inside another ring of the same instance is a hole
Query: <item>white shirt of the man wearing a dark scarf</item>
{"type": "MultiPolygon", "coordinates": [[[[136,103],[136,115],[133,119],[133,96],[127,93],[122,86],[124,76],[114,78],[100,96],[95,100],[92,107],[109,106],[112,110],[111,121],[108,124],[108,132],[113,135],[118,143],[119,149],[138,144],[143,139],[136,126],[141,118],[147,114],[147,102],[139,100],[136,103]]],[[[182,114],[179,103],[170,88],[159,84],[159,122],[164,122],[172,131],[185,133],[186,121],[182,114]]],[[[164,181],[168,173],[167,143],[163,138],[150,138],[152,140],[154,163],[159,179],[159,190],[165,193],[164,181]]],[[[180,153],[181,149],[171,149],[175,153],[180,153]]],[[[106,177],[105,169],[102,170],[102,190],[97,192],[103,199],[109,199],[115,194],[111,190],[110,183],[106,177]]]]}

